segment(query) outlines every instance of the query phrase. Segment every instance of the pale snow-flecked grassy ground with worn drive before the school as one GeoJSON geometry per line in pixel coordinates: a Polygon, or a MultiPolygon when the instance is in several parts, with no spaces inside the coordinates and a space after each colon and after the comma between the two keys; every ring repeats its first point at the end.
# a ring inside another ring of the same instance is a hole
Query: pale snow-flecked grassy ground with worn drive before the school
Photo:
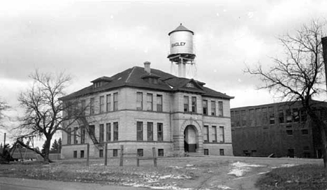
{"type": "Polygon", "coordinates": [[[308,182],[309,189],[314,187],[314,183],[318,189],[327,188],[323,180],[326,175],[321,173],[321,166],[317,166],[322,161],[317,159],[234,156],[160,158],[157,168],[152,160],[141,160],[140,167],[137,167],[135,158],[124,159],[123,167],[119,167],[119,159],[108,159],[108,166],[103,163],[103,159],[92,159],[89,166],[86,166],[85,159],[61,160],[49,165],[11,163],[0,165],[0,176],[174,190],[274,189],[276,182],[277,189],[287,185],[293,185],[289,189],[299,189],[299,185],[304,188],[308,182]],[[308,164],[310,166],[305,166],[308,164]],[[278,168],[286,166],[296,167],[278,168]],[[288,175],[300,171],[303,171],[300,177],[288,175]]]}

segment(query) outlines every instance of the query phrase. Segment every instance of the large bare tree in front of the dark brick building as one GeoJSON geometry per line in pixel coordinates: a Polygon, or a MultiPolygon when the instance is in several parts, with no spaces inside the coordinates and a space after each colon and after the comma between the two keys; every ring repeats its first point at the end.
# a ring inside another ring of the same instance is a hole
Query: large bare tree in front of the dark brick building
{"type": "Polygon", "coordinates": [[[295,34],[286,34],[279,38],[285,52],[285,58],[273,58],[273,66],[263,71],[261,64],[249,68],[245,73],[257,75],[264,82],[259,89],[268,89],[279,94],[287,101],[300,101],[312,122],[319,126],[324,148],[324,166],[326,168],[326,124],[317,115],[312,97],[325,92],[324,60],[322,59],[321,37],[326,24],[312,21],[304,24],[295,34]]]}

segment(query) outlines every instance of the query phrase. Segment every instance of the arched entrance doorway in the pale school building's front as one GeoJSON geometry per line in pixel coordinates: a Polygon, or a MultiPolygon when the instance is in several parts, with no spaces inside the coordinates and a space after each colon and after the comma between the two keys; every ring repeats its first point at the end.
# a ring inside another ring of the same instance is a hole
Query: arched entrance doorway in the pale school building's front
{"type": "Polygon", "coordinates": [[[194,125],[188,125],[184,130],[184,152],[196,152],[198,148],[198,130],[194,125]]]}

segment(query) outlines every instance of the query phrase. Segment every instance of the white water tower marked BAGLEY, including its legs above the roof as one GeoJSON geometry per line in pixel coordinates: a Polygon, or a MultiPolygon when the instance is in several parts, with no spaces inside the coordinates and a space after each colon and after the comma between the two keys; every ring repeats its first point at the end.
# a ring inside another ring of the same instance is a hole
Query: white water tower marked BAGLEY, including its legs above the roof
{"type": "Polygon", "coordinates": [[[169,61],[178,65],[178,76],[185,78],[186,65],[194,64],[196,55],[194,54],[193,36],[194,32],[180,24],[175,30],[170,31],[170,53],[169,61]]]}

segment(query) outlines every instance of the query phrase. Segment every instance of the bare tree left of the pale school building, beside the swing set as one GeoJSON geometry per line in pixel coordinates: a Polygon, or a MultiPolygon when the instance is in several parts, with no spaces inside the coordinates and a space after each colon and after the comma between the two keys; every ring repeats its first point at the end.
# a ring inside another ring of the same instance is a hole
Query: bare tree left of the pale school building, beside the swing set
{"type": "Polygon", "coordinates": [[[20,105],[25,110],[22,124],[16,131],[20,138],[37,135],[45,137],[45,152],[43,159],[50,162],[50,143],[52,136],[57,131],[67,131],[68,127],[82,115],[84,110],[78,107],[78,101],[62,103],[59,101],[64,96],[64,89],[71,81],[71,77],[64,73],[53,75],[52,73],[40,73],[35,71],[30,75],[33,85],[22,92],[19,97],[20,105]],[[71,110],[73,115],[63,114],[64,110],[71,110]],[[65,124],[63,124],[65,122],[65,124]]]}

